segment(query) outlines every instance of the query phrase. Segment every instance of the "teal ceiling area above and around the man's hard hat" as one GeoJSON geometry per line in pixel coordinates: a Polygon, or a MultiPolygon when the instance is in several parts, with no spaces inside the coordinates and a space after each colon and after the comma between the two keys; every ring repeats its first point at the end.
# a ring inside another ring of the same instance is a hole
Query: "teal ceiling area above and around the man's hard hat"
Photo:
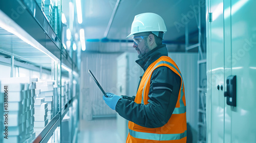
{"type": "MultiPolygon", "coordinates": [[[[81,27],[85,29],[86,39],[104,38],[104,32],[114,10],[116,0],[87,0],[82,3],[84,6],[84,22],[81,27]]],[[[193,7],[198,8],[199,6],[199,0],[121,0],[107,38],[125,39],[130,34],[135,15],[153,12],[162,16],[165,21],[167,33],[164,40],[180,40],[180,37],[185,35],[186,23],[188,23],[189,33],[197,31],[193,7]]],[[[204,10],[204,4],[202,10],[204,10]]],[[[198,9],[196,9],[196,12],[198,12],[198,9]]]]}

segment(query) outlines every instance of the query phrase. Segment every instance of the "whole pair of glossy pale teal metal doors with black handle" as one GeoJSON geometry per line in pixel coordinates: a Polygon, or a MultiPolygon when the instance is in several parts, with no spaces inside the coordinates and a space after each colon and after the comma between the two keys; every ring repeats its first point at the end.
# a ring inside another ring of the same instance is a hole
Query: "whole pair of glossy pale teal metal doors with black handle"
{"type": "Polygon", "coordinates": [[[207,2],[207,142],[256,142],[256,1],[207,2]],[[237,76],[236,107],[224,97],[230,75],[237,76]]]}

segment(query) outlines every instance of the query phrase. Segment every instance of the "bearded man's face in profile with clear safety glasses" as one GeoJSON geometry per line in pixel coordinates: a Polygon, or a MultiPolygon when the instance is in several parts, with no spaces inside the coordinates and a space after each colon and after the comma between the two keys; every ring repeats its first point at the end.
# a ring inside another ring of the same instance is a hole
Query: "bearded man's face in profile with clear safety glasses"
{"type": "Polygon", "coordinates": [[[135,47],[135,50],[139,54],[138,58],[143,57],[147,52],[149,52],[149,47],[147,46],[147,37],[148,36],[134,35],[133,47],[135,47]]]}

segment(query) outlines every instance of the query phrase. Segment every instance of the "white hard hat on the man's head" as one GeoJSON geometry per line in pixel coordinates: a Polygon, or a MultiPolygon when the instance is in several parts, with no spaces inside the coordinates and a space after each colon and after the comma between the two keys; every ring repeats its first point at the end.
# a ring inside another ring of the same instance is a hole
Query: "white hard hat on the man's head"
{"type": "Polygon", "coordinates": [[[164,20],[160,15],[155,13],[141,13],[134,17],[131,34],[126,38],[141,32],[152,32],[158,36],[159,32],[165,33],[166,31],[164,20]]]}

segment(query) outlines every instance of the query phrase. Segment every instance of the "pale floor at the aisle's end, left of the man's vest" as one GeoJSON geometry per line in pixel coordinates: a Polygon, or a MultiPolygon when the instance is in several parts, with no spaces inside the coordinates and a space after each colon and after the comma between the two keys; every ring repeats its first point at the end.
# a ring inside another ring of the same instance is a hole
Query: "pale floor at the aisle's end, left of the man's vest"
{"type": "Polygon", "coordinates": [[[116,118],[96,118],[92,121],[80,121],[78,141],[83,143],[120,143],[116,118]]]}

